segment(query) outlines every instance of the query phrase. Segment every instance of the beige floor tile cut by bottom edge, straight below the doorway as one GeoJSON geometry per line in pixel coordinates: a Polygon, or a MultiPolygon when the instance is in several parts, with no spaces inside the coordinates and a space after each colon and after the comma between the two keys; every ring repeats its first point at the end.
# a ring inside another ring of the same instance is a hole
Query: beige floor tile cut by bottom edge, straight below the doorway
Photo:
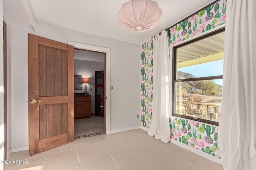
{"type": "Polygon", "coordinates": [[[83,170],[110,170],[117,167],[108,154],[81,160],[80,164],[83,170]]]}

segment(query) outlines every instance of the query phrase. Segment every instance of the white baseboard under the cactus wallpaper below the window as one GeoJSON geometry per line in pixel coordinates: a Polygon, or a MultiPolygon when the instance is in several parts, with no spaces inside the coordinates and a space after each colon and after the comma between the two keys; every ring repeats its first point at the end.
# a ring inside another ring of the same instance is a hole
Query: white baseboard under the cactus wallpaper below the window
{"type": "Polygon", "coordinates": [[[202,156],[202,157],[204,157],[206,159],[209,159],[212,162],[216,162],[217,164],[222,165],[221,160],[219,158],[214,157],[214,156],[212,156],[212,155],[210,155],[208,153],[205,153],[205,152],[203,152],[201,150],[198,150],[198,149],[194,149],[194,148],[192,148],[192,147],[190,147],[190,146],[188,146],[188,145],[186,145],[184,143],[181,143],[179,141],[176,141],[176,140],[172,140],[171,139],[171,143],[174,143],[175,145],[178,145],[179,147],[182,147],[182,148],[187,149],[187,150],[189,150],[191,152],[194,152],[195,154],[198,154],[198,155],[200,155],[200,156],[202,156]]]}

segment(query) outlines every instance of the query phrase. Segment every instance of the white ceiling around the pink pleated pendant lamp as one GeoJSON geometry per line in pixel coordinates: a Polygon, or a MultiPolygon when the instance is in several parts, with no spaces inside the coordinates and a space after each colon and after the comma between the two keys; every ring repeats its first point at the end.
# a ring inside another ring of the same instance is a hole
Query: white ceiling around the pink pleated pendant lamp
{"type": "Polygon", "coordinates": [[[3,0],[11,27],[36,30],[37,22],[141,45],[214,0],[155,0],[162,9],[158,25],[134,33],[119,25],[117,12],[128,0],[3,0]]]}

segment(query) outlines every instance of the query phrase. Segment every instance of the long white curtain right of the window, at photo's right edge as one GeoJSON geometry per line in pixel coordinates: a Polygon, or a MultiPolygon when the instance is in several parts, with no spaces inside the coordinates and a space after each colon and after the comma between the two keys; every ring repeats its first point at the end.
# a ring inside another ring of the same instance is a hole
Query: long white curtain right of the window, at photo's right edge
{"type": "Polygon", "coordinates": [[[256,170],[256,0],[228,0],[219,148],[225,170],[256,170]]]}

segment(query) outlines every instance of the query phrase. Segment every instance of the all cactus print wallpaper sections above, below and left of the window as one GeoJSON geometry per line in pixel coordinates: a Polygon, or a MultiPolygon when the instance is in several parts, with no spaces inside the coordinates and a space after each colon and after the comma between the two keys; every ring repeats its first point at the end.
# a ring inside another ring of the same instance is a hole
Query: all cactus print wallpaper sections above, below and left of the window
{"type": "MultiPolygon", "coordinates": [[[[226,0],[207,6],[167,30],[169,47],[226,23],[226,0]]],[[[153,99],[153,37],[141,47],[140,122],[150,128],[153,99]]],[[[170,116],[170,137],[217,158],[218,127],[170,116]]]]}

